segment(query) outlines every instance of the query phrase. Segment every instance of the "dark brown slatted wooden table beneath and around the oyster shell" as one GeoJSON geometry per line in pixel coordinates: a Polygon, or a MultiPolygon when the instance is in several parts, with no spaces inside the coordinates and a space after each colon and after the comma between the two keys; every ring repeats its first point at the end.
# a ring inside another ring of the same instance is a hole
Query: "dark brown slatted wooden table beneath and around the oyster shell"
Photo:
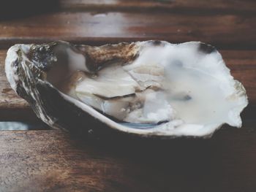
{"type": "Polygon", "coordinates": [[[6,5],[0,18],[0,120],[36,120],[7,83],[7,48],[59,39],[211,43],[243,82],[249,106],[242,128],[224,126],[211,139],[86,140],[63,131],[0,131],[0,191],[256,191],[256,1],[61,0],[34,3],[34,9],[26,2],[15,11],[6,5]]]}

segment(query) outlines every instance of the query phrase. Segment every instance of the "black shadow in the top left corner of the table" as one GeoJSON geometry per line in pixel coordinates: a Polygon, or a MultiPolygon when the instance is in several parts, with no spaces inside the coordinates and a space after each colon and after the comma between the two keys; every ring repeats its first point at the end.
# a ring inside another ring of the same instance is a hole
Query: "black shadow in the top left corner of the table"
{"type": "Polygon", "coordinates": [[[59,8],[58,0],[3,0],[0,5],[0,20],[24,18],[31,15],[53,12],[59,8]]]}

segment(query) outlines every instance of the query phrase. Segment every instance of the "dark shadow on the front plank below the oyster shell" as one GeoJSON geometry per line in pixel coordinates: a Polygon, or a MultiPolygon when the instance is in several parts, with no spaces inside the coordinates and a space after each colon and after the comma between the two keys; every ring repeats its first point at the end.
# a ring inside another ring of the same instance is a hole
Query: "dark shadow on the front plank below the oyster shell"
{"type": "MultiPolygon", "coordinates": [[[[243,191],[245,185],[255,185],[255,154],[249,153],[256,146],[253,111],[251,104],[243,113],[244,128],[223,126],[211,139],[72,135],[72,145],[117,164],[129,178],[126,182],[141,191],[243,191]]],[[[122,185],[119,189],[128,191],[122,185]]]]}

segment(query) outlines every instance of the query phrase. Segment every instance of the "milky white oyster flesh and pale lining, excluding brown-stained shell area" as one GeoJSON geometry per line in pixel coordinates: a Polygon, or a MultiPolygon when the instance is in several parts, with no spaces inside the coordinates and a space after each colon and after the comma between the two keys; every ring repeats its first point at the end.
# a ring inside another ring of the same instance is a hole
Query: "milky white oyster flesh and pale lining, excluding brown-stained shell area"
{"type": "Polygon", "coordinates": [[[198,42],[140,43],[131,63],[110,64],[94,75],[74,70],[72,86],[63,92],[127,122],[116,125],[123,131],[131,129],[129,123],[154,124],[135,133],[187,136],[211,134],[223,123],[241,127],[240,113],[248,103],[244,87],[217,51],[203,53],[198,42]]]}

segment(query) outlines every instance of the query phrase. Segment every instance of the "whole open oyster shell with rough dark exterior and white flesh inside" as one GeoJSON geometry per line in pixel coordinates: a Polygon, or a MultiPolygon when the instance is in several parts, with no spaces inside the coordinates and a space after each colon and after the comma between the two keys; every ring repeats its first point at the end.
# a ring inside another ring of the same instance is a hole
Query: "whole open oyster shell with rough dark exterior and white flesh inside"
{"type": "Polygon", "coordinates": [[[5,70],[53,128],[207,137],[224,123],[241,127],[248,104],[222,56],[201,42],[14,45],[5,70]]]}

